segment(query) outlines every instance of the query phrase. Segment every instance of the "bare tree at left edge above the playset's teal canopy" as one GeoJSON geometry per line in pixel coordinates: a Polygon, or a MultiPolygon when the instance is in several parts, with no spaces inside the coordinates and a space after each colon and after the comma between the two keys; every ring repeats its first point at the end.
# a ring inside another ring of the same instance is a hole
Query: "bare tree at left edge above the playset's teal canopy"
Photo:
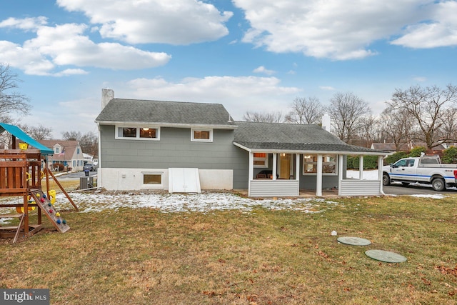
{"type": "Polygon", "coordinates": [[[0,63],[0,120],[6,121],[11,112],[28,114],[29,98],[16,92],[17,83],[21,81],[17,74],[9,70],[9,64],[0,63]]]}

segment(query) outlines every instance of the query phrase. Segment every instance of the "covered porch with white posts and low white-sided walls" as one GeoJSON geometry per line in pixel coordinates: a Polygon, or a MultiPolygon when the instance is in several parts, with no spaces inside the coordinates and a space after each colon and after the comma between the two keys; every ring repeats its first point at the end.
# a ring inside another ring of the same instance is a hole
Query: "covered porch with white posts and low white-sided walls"
{"type": "Polygon", "coordinates": [[[249,150],[248,196],[373,196],[383,194],[385,153],[249,150]],[[363,156],[378,156],[377,179],[363,177],[363,156]],[[358,179],[346,176],[346,157],[359,156],[358,179]]]}

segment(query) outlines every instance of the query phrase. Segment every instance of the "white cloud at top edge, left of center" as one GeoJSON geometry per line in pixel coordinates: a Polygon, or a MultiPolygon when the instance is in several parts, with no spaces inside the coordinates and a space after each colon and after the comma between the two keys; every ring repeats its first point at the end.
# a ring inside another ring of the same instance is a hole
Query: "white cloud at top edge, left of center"
{"type": "Polygon", "coordinates": [[[233,15],[195,0],[57,0],[68,11],[82,11],[101,24],[104,38],[131,44],[192,44],[229,34],[224,26],[233,15]]]}

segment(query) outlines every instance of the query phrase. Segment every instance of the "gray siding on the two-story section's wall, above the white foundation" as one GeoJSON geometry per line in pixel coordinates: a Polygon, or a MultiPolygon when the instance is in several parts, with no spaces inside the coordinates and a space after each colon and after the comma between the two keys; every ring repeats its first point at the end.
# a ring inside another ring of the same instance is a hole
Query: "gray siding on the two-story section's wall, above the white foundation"
{"type": "Polygon", "coordinates": [[[233,145],[233,130],[214,129],[212,142],[191,141],[191,129],[161,127],[159,141],[115,139],[101,125],[101,167],[129,169],[233,169],[233,188],[247,188],[248,153],[233,145]]]}

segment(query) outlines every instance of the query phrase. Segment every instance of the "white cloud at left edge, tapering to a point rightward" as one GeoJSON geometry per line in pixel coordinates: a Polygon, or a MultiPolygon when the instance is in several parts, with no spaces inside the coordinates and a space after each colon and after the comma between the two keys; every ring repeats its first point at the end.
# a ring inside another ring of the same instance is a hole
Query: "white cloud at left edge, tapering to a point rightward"
{"type": "MultiPolygon", "coordinates": [[[[29,28],[31,29],[31,28],[29,28]]],[[[95,66],[106,69],[144,69],[166,64],[171,56],[143,51],[117,43],[99,43],[89,39],[84,24],[41,26],[36,37],[21,46],[0,41],[2,60],[24,69],[26,74],[63,76],[84,73],[81,69],[54,71],[58,66],[95,66]]]]}

